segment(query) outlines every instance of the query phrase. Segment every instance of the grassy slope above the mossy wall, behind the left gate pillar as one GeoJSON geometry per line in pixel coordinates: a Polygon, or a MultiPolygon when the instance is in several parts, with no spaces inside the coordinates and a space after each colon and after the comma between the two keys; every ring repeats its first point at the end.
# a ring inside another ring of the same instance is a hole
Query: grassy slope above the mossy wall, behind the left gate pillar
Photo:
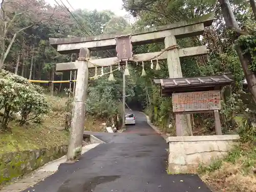
{"type": "MultiPolygon", "coordinates": [[[[47,95],[53,110],[45,116],[40,124],[29,122],[19,126],[18,122],[10,122],[10,132],[0,133],[0,154],[14,151],[32,150],[68,144],[69,133],[65,127],[65,107],[67,98],[47,95]]],[[[87,131],[103,131],[102,121],[89,117],[84,129],[87,131]]]]}

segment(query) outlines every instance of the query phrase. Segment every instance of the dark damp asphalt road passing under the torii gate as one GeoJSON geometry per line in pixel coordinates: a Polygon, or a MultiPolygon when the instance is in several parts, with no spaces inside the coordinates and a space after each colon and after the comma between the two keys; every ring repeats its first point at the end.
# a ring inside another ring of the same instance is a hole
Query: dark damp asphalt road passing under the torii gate
{"type": "Polygon", "coordinates": [[[139,112],[124,133],[95,133],[106,143],[24,190],[35,192],[210,192],[196,175],[167,175],[168,145],[139,112]]]}

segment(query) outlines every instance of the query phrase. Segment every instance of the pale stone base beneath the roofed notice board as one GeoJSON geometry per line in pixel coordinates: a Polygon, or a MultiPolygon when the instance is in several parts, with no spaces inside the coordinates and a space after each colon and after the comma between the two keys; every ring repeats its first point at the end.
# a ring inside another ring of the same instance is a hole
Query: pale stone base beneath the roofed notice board
{"type": "Polygon", "coordinates": [[[168,172],[196,173],[200,164],[222,158],[239,141],[239,135],[168,137],[168,172]]]}

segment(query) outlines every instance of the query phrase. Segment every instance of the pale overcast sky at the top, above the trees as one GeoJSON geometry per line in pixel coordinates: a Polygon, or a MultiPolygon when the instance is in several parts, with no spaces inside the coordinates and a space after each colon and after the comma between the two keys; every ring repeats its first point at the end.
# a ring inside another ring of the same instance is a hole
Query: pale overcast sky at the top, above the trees
{"type": "MultiPolygon", "coordinates": [[[[45,0],[47,3],[51,5],[56,5],[54,0],[45,0]]],[[[60,0],[56,0],[60,5],[60,0]]],[[[71,9],[68,2],[74,9],[88,9],[88,10],[111,10],[118,16],[124,16],[128,13],[125,10],[122,10],[122,0],[62,0],[62,2],[71,9]]]]}

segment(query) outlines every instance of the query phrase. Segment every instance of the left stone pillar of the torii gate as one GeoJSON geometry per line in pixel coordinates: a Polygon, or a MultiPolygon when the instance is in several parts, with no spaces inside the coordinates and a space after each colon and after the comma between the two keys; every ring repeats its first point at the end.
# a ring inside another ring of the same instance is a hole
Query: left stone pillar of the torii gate
{"type": "Polygon", "coordinates": [[[88,92],[88,60],[90,51],[81,48],[79,53],[77,82],[73,102],[72,122],[67,160],[76,160],[81,156],[84,120],[86,112],[86,99],[88,92]]]}

